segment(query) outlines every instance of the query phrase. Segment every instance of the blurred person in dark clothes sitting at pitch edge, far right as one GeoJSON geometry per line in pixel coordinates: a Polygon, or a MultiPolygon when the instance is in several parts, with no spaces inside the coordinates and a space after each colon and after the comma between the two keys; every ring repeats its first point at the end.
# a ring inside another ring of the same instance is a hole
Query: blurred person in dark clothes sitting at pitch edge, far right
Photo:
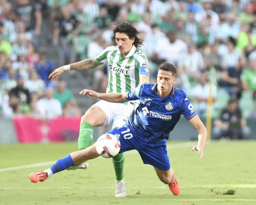
{"type": "Polygon", "coordinates": [[[216,139],[242,139],[250,133],[237,100],[231,99],[222,110],[220,118],[214,121],[213,133],[216,139]]]}

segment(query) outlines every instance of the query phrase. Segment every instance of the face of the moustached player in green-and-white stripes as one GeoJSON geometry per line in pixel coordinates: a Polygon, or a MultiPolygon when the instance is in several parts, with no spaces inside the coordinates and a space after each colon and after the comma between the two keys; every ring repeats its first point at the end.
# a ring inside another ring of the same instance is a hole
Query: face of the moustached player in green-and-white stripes
{"type": "Polygon", "coordinates": [[[125,57],[131,50],[135,38],[129,38],[126,33],[116,33],[116,44],[120,53],[125,57]]]}

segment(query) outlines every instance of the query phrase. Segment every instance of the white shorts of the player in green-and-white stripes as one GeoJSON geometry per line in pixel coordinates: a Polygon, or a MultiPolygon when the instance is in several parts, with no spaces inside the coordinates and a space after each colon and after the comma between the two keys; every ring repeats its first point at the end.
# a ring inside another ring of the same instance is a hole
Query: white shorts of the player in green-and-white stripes
{"type": "Polygon", "coordinates": [[[122,127],[128,117],[131,114],[131,111],[135,108],[136,103],[134,101],[129,101],[126,103],[111,103],[105,100],[100,100],[99,102],[95,103],[94,105],[99,107],[106,114],[106,121],[104,125],[107,125],[111,122],[112,128],[115,127],[122,127]]]}

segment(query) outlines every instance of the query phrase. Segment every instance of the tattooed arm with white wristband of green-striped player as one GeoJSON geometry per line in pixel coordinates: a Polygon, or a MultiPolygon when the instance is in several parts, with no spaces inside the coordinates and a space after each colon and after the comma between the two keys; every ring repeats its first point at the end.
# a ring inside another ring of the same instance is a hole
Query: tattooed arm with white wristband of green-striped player
{"type": "Polygon", "coordinates": [[[57,81],[58,76],[60,76],[62,73],[68,70],[88,70],[97,67],[98,65],[101,65],[102,63],[97,62],[95,59],[85,59],[81,60],[79,62],[64,65],[57,69],[55,69],[50,75],[49,79],[52,79],[52,81],[57,81]]]}

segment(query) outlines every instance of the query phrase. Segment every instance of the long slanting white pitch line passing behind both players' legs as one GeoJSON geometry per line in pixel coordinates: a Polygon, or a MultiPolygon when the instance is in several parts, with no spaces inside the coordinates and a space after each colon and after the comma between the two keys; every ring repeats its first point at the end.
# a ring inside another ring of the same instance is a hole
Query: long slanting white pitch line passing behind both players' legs
{"type": "MultiPolygon", "coordinates": [[[[195,145],[195,144],[196,144],[195,141],[185,142],[185,143],[178,143],[178,144],[174,144],[174,145],[167,145],[167,149],[184,148],[184,147],[189,147],[189,146],[192,146],[192,145],[195,145]]],[[[133,155],[135,153],[138,153],[137,150],[130,150],[130,151],[126,152],[125,155],[133,155]]],[[[22,166],[17,166],[17,167],[7,167],[7,168],[0,169],[0,172],[12,171],[12,170],[18,170],[18,169],[26,169],[26,168],[31,168],[31,167],[40,167],[40,166],[44,166],[44,165],[52,165],[55,162],[56,161],[41,162],[41,163],[28,164],[28,165],[22,165],[22,166]]]]}

